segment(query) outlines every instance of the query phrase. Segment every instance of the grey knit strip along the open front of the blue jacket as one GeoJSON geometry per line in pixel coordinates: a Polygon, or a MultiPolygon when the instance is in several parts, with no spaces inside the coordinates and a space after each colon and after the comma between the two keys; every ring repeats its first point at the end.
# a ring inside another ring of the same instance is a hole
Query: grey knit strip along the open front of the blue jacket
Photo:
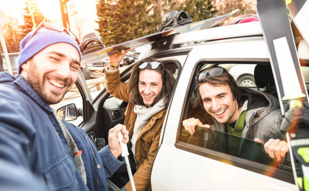
{"type": "Polygon", "coordinates": [[[82,177],[84,180],[85,184],[87,184],[87,178],[86,178],[86,171],[85,171],[85,166],[84,166],[84,161],[81,157],[81,155],[75,155],[77,152],[79,152],[79,149],[77,148],[76,143],[74,142],[74,139],[72,135],[70,134],[69,130],[67,127],[62,123],[60,118],[56,115],[56,112],[54,112],[54,115],[57,119],[57,122],[62,130],[63,135],[65,136],[68,144],[68,148],[72,154],[73,161],[82,177]],[[75,155],[75,156],[74,156],[75,155]]]}

